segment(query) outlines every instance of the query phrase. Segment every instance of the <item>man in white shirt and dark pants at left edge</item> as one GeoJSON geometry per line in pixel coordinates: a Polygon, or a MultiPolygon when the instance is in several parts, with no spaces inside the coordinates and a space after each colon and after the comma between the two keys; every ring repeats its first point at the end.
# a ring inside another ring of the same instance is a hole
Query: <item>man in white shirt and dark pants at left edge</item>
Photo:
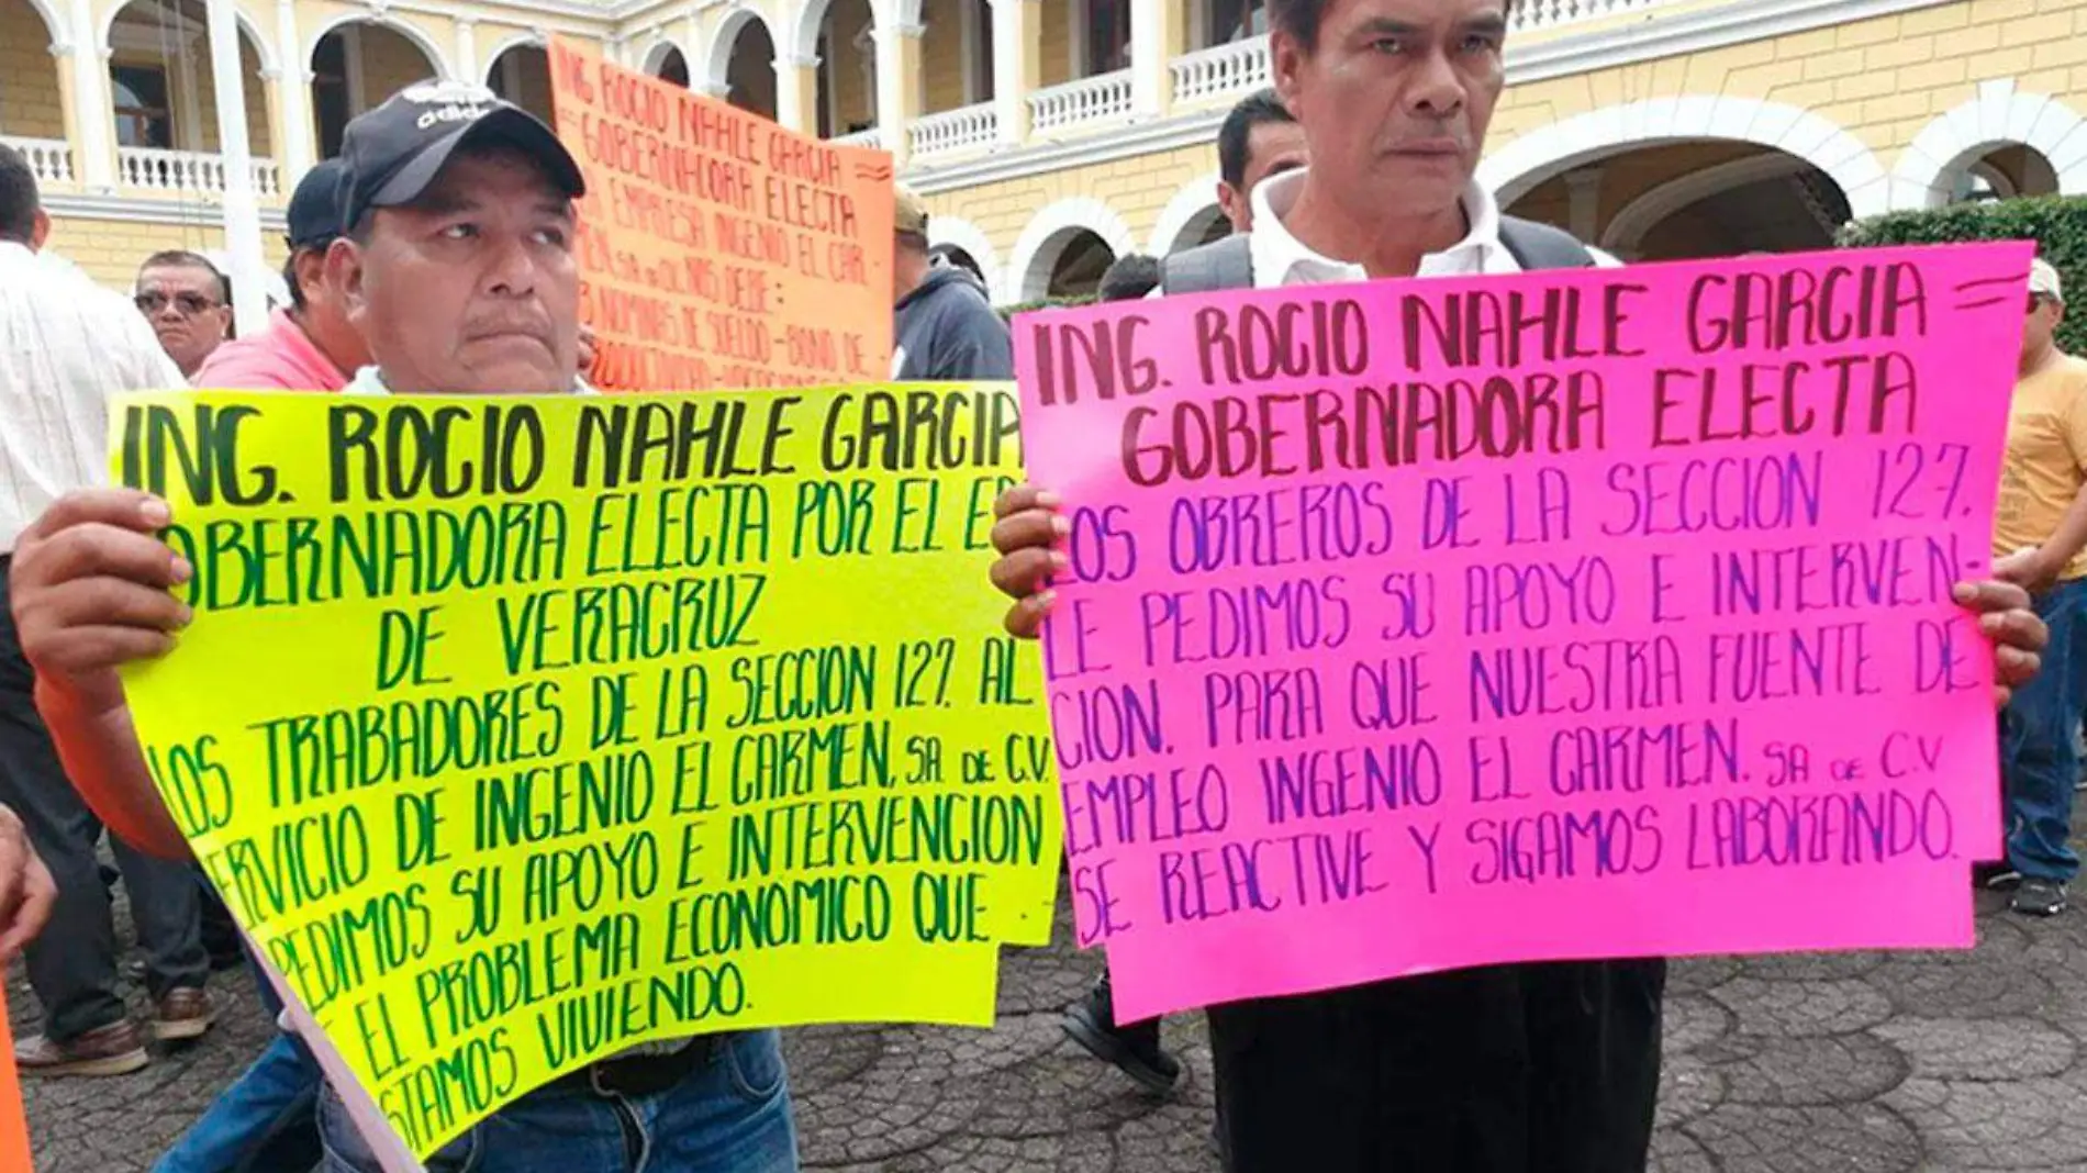
{"type": "MultiPolygon", "coordinates": [[[[21,1039],[15,1058],[29,1075],[121,1075],[144,1067],[146,1050],[117,989],[115,923],[94,858],[102,829],[35,712],[6,572],[29,522],[61,495],[106,480],[109,399],[182,386],[182,372],[123,296],[44,253],[46,236],[33,171],[0,146],[0,801],[27,824],[58,885],[54,927],[27,952],[44,1033],[21,1039]]],[[[192,1039],[211,1025],[196,881],[121,841],[115,856],[146,952],[152,1035],[192,1039]]]]}

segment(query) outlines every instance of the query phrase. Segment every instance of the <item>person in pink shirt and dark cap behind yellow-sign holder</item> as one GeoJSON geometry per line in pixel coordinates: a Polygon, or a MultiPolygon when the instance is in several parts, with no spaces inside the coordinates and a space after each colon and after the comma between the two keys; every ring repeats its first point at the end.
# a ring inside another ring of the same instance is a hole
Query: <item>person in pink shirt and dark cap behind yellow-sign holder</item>
{"type": "Polygon", "coordinates": [[[346,165],[338,159],[305,173],[290,194],[290,259],[282,265],[290,309],[271,313],[267,330],[217,346],[190,382],[215,390],[340,390],[369,363],[340,290],[326,284],[344,190],[346,165]]]}

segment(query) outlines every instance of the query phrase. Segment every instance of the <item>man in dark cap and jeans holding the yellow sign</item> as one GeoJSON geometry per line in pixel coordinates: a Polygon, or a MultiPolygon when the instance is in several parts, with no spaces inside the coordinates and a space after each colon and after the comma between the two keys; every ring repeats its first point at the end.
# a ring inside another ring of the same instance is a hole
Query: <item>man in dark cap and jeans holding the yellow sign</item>
{"type": "MultiPolygon", "coordinates": [[[[346,394],[580,390],[572,200],[584,184],[551,127],[482,86],[426,81],[349,123],[342,161],[344,236],[326,280],[371,357],[346,394]]],[[[142,493],[67,497],[25,534],[15,578],[73,783],[119,835],[184,854],[115,676],[123,662],[179,655],[173,557],[152,538],[165,522],[165,503],[142,493]]],[[[328,1169],[378,1169],[334,1087],[319,1096],[319,1131],[328,1169]]],[[[428,1167],[793,1173],[776,1033],[624,1050],[524,1094],[428,1167]]]]}

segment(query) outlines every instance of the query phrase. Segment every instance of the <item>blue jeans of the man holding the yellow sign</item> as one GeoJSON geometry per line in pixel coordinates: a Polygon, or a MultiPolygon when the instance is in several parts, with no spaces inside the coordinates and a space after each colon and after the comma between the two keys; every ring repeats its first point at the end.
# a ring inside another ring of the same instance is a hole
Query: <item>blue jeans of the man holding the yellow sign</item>
{"type": "MultiPolygon", "coordinates": [[[[319,1096],[326,1173],[376,1173],[340,1098],[319,1096]]],[[[538,1087],[436,1150],[428,1173],[797,1173],[797,1125],[774,1031],[720,1039],[657,1096],[538,1087]]]]}

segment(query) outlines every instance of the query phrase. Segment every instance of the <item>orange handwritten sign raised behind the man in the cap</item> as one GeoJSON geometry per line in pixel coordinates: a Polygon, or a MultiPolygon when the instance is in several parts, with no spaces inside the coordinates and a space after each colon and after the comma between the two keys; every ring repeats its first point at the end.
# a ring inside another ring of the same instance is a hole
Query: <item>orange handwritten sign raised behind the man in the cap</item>
{"type": "Polygon", "coordinates": [[[580,315],[603,390],[891,376],[891,157],[835,146],[551,42],[586,175],[580,315]]]}

